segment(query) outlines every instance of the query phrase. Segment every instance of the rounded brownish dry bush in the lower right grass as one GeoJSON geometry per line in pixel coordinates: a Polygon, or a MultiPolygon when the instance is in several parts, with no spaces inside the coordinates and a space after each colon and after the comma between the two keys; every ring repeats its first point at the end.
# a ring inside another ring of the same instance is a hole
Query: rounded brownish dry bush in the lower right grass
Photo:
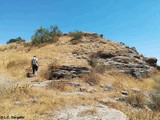
{"type": "Polygon", "coordinates": [[[143,108],[145,104],[145,96],[142,93],[133,93],[128,96],[126,102],[133,107],[143,108]]]}

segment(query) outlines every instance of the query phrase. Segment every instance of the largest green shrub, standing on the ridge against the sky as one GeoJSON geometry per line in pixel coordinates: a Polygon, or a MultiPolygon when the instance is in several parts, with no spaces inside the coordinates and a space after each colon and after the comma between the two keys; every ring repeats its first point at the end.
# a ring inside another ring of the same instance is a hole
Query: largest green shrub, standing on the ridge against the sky
{"type": "Polygon", "coordinates": [[[35,34],[32,36],[32,45],[39,45],[42,43],[53,43],[57,42],[58,37],[62,35],[58,26],[50,26],[49,29],[38,28],[35,34]]]}

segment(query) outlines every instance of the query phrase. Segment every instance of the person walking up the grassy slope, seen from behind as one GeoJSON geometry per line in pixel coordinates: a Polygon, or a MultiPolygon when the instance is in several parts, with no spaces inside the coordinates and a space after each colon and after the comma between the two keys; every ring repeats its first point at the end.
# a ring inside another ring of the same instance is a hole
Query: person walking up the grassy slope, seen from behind
{"type": "Polygon", "coordinates": [[[33,73],[33,75],[37,75],[37,71],[38,71],[38,58],[36,56],[33,56],[31,65],[32,65],[32,73],[33,73]]]}

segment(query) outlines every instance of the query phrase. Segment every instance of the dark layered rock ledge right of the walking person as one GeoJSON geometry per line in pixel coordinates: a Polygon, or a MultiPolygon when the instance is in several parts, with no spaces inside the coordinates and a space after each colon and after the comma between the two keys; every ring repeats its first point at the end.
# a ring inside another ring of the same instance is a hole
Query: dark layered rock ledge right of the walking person
{"type": "Polygon", "coordinates": [[[83,74],[89,74],[91,70],[82,66],[60,66],[51,67],[50,79],[63,79],[63,78],[74,78],[80,77],[83,74]]]}

